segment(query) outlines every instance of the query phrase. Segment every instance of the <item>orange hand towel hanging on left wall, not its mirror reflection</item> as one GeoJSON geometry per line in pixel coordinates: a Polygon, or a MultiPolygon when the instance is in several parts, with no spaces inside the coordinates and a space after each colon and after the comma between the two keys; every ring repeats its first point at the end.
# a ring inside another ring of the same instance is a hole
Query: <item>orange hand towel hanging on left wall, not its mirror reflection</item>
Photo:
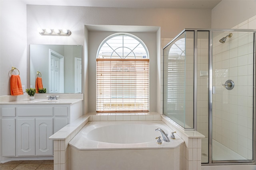
{"type": "Polygon", "coordinates": [[[18,96],[18,95],[23,94],[20,75],[12,75],[11,76],[10,86],[11,86],[11,95],[12,96],[18,96]]]}

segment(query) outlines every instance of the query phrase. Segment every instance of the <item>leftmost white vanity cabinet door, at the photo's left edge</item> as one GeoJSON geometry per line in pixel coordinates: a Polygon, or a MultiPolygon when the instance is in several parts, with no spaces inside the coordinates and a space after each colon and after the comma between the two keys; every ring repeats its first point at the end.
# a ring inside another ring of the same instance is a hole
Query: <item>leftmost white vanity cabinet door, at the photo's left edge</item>
{"type": "Polygon", "coordinates": [[[15,150],[15,119],[2,119],[2,156],[16,156],[15,150]]]}

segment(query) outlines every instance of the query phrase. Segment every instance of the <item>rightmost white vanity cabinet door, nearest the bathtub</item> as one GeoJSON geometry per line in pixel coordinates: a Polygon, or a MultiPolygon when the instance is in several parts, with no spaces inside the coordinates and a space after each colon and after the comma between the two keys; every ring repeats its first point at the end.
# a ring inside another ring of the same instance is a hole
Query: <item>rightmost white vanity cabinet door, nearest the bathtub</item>
{"type": "Polygon", "coordinates": [[[53,155],[52,119],[36,119],[36,155],[53,155]]]}

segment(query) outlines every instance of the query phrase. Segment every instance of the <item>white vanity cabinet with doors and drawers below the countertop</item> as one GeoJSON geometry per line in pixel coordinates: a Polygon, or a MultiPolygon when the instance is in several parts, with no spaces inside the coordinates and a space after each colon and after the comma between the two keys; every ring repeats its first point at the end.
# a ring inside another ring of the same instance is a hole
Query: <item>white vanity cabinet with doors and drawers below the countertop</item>
{"type": "Polygon", "coordinates": [[[1,104],[2,156],[53,156],[48,138],[82,115],[74,104],[1,104]]]}

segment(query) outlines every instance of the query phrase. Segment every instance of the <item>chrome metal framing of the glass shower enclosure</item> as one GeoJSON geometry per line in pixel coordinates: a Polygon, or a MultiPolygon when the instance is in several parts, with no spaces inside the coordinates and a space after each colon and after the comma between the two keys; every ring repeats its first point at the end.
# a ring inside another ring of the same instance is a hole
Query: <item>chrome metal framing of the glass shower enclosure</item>
{"type": "MultiPolygon", "coordinates": [[[[202,163],[202,166],[204,165],[234,165],[234,164],[256,164],[255,160],[255,131],[256,131],[256,29],[184,29],[182,30],[172,41],[170,41],[166,46],[163,47],[165,49],[168,45],[170,45],[172,42],[176,41],[176,39],[185,31],[194,31],[194,129],[197,130],[197,38],[198,38],[198,31],[209,31],[209,107],[208,107],[208,113],[209,113],[209,147],[208,147],[208,163],[202,163]],[[253,160],[229,160],[229,161],[212,161],[212,33],[214,31],[227,31],[227,32],[254,32],[254,75],[253,75],[253,160]]],[[[184,128],[183,128],[184,129],[184,128]]],[[[192,130],[192,129],[184,129],[184,130],[192,130]]]]}

